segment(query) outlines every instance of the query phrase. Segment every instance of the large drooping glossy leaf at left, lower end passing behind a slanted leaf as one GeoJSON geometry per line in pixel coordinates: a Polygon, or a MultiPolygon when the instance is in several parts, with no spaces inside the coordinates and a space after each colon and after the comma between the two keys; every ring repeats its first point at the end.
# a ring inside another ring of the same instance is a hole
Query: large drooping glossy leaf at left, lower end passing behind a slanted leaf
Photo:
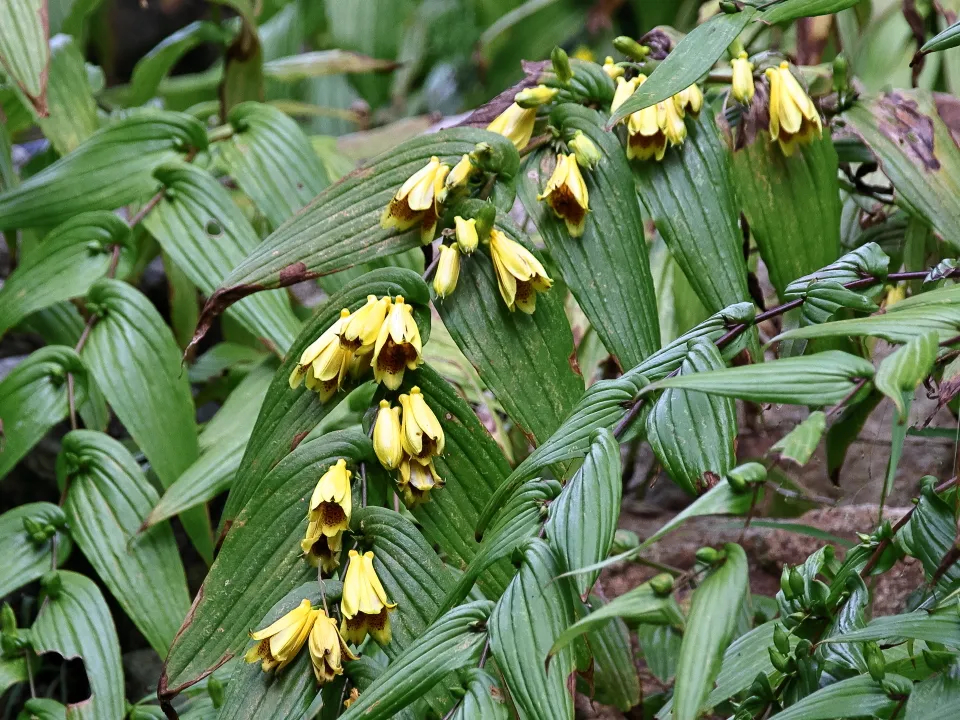
{"type": "MultiPolygon", "coordinates": [[[[160,313],[130,285],[100,280],[87,299],[99,319],[84,347],[84,362],[161,484],[169,487],[199,455],[180,350],[160,313]]],[[[206,509],[188,510],[181,520],[209,560],[213,541],[206,509]]]]}

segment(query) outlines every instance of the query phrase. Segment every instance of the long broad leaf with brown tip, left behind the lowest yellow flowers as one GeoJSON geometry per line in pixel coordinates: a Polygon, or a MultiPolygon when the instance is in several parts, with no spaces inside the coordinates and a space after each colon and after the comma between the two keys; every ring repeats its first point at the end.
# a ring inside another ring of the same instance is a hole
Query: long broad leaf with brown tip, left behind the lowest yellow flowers
{"type": "Polygon", "coordinates": [[[317,479],[343,458],[353,464],[372,453],[357,430],[302,443],[260,483],[230,526],[220,553],[177,635],[160,677],[169,699],[240,653],[247,632],[267,610],[316,570],[301,556],[307,501],[317,479]]]}

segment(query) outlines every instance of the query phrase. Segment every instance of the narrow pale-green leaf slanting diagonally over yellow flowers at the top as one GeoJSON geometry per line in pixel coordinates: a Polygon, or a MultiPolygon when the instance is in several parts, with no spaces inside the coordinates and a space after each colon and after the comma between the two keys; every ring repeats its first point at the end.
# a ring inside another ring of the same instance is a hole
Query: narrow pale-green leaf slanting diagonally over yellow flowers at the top
{"type": "Polygon", "coordinates": [[[642,87],[610,117],[613,124],[631,113],[673,97],[707,74],[743,31],[757,11],[744,7],[736,13],[719,13],[695,27],[667,55],[642,87]]]}

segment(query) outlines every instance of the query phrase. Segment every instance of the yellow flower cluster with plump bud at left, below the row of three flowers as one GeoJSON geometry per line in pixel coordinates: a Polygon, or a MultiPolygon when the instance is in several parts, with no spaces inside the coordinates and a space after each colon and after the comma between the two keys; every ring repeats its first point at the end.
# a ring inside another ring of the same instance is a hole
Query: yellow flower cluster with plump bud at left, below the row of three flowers
{"type": "Polygon", "coordinates": [[[400,405],[380,401],[373,425],[373,449],[380,464],[397,471],[397,489],[408,507],[429,500],[430,491],[442,488],[433,459],[443,453],[445,438],[440,421],[419,387],[398,398],[400,405]]]}

